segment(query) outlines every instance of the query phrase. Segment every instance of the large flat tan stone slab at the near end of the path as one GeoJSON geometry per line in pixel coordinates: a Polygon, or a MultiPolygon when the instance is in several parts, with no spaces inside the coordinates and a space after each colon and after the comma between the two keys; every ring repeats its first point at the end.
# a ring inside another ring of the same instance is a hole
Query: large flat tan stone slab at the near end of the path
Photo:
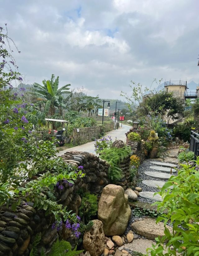
{"type": "MultiPolygon", "coordinates": [[[[132,230],[139,235],[142,235],[148,239],[155,240],[155,237],[162,237],[164,235],[164,223],[158,222],[156,224],[156,219],[145,218],[144,220],[138,220],[131,224],[132,230]]],[[[173,229],[166,225],[170,233],[173,229]]]]}

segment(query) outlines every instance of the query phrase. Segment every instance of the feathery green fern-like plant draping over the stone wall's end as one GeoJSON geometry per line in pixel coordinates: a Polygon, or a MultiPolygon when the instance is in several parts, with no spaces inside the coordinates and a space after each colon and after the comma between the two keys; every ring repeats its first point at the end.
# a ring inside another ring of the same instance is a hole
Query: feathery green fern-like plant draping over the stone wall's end
{"type": "Polygon", "coordinates": [[[116,182],[122,177],[122,170],[118,167],[119,163],[129,157],[131,148],[125,146],[123,148],[110,148],[104,149],[100,152],[100,158],[106,160],[111,166],[108,171],[108,177],[111,182],[116,182]]]}

